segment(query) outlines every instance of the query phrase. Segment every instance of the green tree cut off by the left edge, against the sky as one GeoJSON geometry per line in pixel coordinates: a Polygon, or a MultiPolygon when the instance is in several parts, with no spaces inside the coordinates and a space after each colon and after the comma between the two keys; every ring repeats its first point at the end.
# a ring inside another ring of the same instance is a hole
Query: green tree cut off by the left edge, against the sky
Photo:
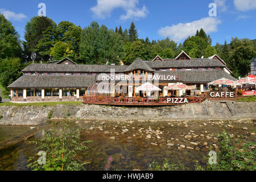
{"type": "Polygon", "coordinates": [[[0,61],[6,57],[20,57],[19,34],[9,20],[0,14],[0,61]]]}

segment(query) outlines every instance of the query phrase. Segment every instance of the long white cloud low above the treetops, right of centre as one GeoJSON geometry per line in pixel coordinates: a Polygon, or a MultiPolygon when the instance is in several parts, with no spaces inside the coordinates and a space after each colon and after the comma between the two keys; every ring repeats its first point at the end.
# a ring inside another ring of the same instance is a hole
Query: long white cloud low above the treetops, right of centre
{"type": "Polygon", "coordinates": [[[205,33],[216,32],[217,25],[221,20],[217,18],[202,18],[191,23],[179,23],[172,26],[162,27],[158,30],[158,34],[163,37],[169,36],[172,40],[179,42],[182,39],[196,34],[197,30],[204,29],[205,33]]]}

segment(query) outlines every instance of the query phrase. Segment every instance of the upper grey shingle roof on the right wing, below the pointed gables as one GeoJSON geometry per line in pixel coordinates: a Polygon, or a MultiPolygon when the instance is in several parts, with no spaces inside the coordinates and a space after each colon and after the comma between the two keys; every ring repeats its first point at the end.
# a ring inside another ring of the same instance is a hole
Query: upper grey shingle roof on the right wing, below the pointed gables
{"type": "Polygon", "coordinates": [[[224,68],[217,59],[191,59],[191,60],[164,60],[164,61],[144,61],[151,68],[224,68]]]}

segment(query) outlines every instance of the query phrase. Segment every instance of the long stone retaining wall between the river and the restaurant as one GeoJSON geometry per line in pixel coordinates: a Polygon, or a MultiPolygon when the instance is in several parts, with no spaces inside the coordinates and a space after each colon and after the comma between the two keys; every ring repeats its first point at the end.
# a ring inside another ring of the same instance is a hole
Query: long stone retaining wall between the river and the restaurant
{"type": "Polygon", "coordinates": [[[0,125],[37,125],[46,121],[50,110],[52,119],[68,118],[100,121],[173,121],[173,120],[237,120],[256,119],[256,102],[204,101],[163,107],[118,107],[104,105],[1,106],[0,125]]]}

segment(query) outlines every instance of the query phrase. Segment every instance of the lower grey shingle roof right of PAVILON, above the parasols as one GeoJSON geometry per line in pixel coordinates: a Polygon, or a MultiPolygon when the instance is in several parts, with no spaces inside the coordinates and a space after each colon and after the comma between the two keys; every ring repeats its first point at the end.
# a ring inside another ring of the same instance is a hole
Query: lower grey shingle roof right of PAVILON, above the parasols
{"type": "Polygon", "coordinates": [[[180,81],[184,83],[208,83],[220,78],[228,78],[237,81],[236,78],[229,75],[223,70],[199,70],[199,71],[156,71],[159,75],[176,75],[180,76],[180,81]]]}

